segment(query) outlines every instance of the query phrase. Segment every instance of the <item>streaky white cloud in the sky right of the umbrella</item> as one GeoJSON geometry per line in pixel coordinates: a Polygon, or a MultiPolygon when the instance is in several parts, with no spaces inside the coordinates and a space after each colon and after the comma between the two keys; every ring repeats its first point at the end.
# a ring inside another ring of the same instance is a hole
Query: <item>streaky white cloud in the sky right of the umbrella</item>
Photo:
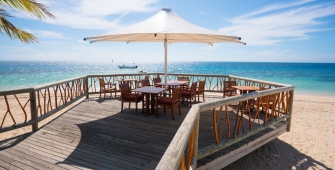
{"type": "Polygon", "coordinates": [[[329,30],[317,28],[325,24],[317,19],[335,14],[334,3],[309,2],[267,6],[230,20],[232,26],[219,31],[240,36],[247,45],[274,45],[282,41],[309,39],[308,33],[329,30]]]}

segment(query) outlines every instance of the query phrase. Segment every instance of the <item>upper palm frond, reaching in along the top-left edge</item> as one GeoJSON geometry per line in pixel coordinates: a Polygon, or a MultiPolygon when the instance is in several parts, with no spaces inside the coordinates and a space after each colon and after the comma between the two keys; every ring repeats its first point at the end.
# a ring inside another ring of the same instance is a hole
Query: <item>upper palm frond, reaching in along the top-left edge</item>
{"type": "Polygon", "coordinates": [[[2,6],[8,5],[11,8],[16,8],[23,12],[27,12],[40,19],[46,18],[45,15],[47,15],[52,19],[56,18],[47,10],[46,6],[36,2],[35,0],[0,0],[0,5],[2,6]]]}

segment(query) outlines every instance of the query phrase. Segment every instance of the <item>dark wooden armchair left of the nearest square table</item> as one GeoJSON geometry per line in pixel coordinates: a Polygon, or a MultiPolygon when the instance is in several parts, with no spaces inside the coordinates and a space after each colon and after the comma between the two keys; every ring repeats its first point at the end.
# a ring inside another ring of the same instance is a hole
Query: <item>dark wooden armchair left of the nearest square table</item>
{"type": "Polygon", "coordinates": [[[142,101],[142,111],[143,111],[144,110],[143,95],[139,93],[132,93],[128,83],[122,83],[119,86],[121,90],[121,113],[123,112],[124,102],[129,102],[129,108],[130,103],[134,102],[136,105],[136,113],[137,113],[137,103],[142,101]]]}

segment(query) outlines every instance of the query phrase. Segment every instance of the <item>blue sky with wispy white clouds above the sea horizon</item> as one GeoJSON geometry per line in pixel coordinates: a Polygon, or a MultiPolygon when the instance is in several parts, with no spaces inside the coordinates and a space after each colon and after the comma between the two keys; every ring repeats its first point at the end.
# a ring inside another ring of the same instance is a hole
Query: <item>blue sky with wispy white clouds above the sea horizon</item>
{"type": "Polygon", "coordinates": [[[168,61],[335,63],[333,0],[37,0],[56,19],[5,8],[26,44],[0,34],[0,61],[163,62],[163,43],[89,43],[83,38],[122,29],[170,8],[186,21],[237,43],[171,43],[168,61]]]}

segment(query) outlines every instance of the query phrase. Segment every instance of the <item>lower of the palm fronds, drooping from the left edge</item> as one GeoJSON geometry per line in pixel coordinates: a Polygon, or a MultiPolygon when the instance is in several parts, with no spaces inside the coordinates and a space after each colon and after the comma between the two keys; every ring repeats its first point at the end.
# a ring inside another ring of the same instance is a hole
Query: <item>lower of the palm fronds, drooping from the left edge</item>
{"type": "MultiPolygon", "coordinates": [[[[4,11],[4,10],[2,10],[4,11]]],[[[11,39],[18,38],[20,41],[25,43],[34,43],[38,42],[37,38],[28,32],[25,32],[17,27],[15,27],[12,23],[10,23],[0,12],[0,33],[6,33],[11,39]]]]}

